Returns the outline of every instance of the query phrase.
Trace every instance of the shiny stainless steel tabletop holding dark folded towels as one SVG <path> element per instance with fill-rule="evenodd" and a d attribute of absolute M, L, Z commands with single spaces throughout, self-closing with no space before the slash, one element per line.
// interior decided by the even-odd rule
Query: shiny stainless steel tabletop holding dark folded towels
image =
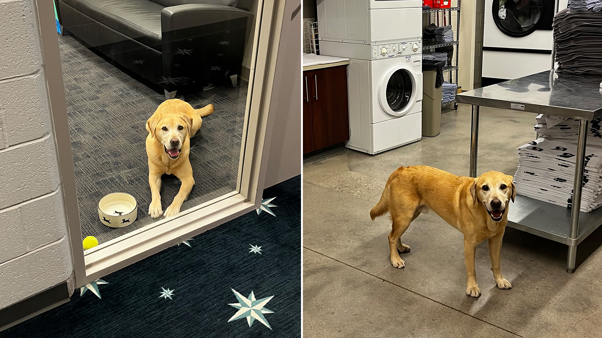
<path fill-rule="evenodd" d="M 602 76 L 554 70 L 456 95 L 459 103 L 593 120 L 602 115 Z"/>

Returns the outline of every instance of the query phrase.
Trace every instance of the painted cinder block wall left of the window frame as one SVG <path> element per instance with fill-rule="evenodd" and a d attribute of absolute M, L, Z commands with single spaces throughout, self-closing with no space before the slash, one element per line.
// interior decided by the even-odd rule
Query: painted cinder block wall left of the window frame
<path fill-rule="evenodd" d="M 0 41 L 2 309 L 67 280 L 72 260 L 33 0 L 0 2 Z"/>

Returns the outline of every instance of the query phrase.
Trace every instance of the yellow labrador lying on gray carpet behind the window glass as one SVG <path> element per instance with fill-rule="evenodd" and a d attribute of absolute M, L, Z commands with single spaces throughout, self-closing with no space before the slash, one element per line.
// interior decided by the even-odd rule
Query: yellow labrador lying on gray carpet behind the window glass
<path fill-rule="evenodd" d="M 213 112 L 213 105 L 194 109 L 179 99 L 166 100 L 146 121 L 146 155 L 149 158 L 149 185 L 152 201 L 149 215 L 152 218 L 170 217 L 180 212 L 180 207 L 194 185 L 190 153 L 190 138 L 202 124 L 202 117 Z M 165 210 L 161 207 L 161 175 L 173 174 L 182 182 L 173 203 Z"/>

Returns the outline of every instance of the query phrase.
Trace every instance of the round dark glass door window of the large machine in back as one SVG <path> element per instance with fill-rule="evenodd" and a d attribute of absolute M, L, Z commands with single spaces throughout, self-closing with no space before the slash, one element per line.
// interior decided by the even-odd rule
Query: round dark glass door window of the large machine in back
<path fill-rule="evenodd" d="M 544 0 L 493 0 L 493 20 L 511 37 L 524 37 L 535 31 L 544 13 Z"/>

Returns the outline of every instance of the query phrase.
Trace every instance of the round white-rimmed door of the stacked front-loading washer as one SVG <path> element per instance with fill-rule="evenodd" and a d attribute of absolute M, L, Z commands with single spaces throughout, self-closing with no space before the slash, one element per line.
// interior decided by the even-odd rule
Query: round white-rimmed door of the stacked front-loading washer
<path fill-rule="evenodd" d="M 403 64 L 391 67 L 380 79 L 379 103 L 386 114 L 405 115 L 416 102 L 416 75 Z"/>

